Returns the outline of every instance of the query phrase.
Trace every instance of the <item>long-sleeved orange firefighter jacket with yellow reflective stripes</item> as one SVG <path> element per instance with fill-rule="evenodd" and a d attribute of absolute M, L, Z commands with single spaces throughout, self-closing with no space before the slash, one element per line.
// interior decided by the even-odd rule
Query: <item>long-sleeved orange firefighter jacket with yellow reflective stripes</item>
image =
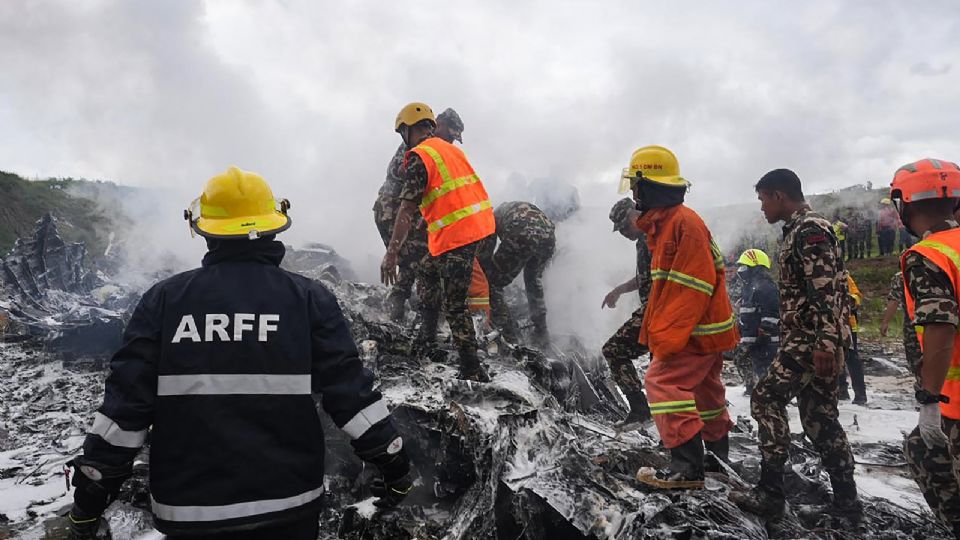
<path fill-rule="evenodd" d="M 723 255 L 700 216 L 681 204 L 650 210 L 637 225 L 647 233 L 652 280 L 640 343 L 659 358 L 735 348 Z"/>

